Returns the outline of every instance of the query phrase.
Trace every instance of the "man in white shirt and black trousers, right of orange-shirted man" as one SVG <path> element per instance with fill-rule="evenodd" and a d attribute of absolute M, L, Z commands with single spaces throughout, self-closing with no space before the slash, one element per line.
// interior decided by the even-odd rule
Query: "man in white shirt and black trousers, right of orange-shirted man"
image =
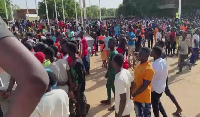
<path fill-rule="evenodd" d="M 155 117 L 159 117 L 159 111 L 162 113 L 163 117 L 167 117 L 167 114 L 160 102 L 160 98 L 162 93 L 165 91 L 168 66 L 166 60 L 161 58 L 161 55 L 162 49 L 155 46 L 151 52 L 151 56 L 154 58 L 152 67 L 155 71 L 152 80 L 151 104 Z"/>

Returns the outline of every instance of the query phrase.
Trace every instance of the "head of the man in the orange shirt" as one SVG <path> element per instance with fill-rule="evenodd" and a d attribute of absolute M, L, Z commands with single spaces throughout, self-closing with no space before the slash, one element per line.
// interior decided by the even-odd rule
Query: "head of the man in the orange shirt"
<path fill-rule="evenodd" d="M 141 61 L 141 63 L 145 63 L 148 61 L 149 55 L 150 49 L 147 47 L 143 47 L 139 51 L 138 60 Z"/>

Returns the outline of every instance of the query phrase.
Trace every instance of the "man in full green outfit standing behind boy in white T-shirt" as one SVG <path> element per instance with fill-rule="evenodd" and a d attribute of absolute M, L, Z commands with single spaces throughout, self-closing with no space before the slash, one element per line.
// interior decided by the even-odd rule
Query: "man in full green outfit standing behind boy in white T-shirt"
<path fill-rule="evenodd" d="M 115 81 L 115 70 L 111 64 L 113 57 L 118 53 L 115 50 L 115 46 L 116 46 L 116 41 L 114 38 L 110 39 L 108 42 L 108 47 L 110 48 L 110 53 L 109 53 L 109 60 L 108 60 L 108 70 L 107 73 L 105 75 L 105 77 L 107 78 L 107 84 L 106 84 L 106 88 L 107 88 L 107 100 L 102 100 L 101 103 L 102 104 L 111 104 L 111 89 L 113 91 L 113 93 L 115 93 L 115 86 L 114 86 L 114 81 Z"/>

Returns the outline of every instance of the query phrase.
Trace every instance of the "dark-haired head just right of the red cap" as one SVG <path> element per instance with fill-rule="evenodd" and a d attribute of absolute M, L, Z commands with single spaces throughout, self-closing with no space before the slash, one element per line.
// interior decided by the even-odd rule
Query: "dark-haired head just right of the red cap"
<path fill-rule="evenodd" d="M 50 60 L 51 62 L 54 62 L 54 55 L 55 52 L 51 47 L 47 47 L 44 49 L 44 54 L 45 54 L 45 58 Z"/>

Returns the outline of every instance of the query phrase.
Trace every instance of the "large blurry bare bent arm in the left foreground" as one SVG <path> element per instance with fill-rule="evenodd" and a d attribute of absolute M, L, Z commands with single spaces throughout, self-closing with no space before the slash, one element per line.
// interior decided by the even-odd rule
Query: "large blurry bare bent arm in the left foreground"
<path fill-rule="evenodd" d="M 46 91 L 49 81 L 45 69 L 14 37 L 0 39 L 0 66 L 18 84 L 6 117 L 29 117 Z"/>

